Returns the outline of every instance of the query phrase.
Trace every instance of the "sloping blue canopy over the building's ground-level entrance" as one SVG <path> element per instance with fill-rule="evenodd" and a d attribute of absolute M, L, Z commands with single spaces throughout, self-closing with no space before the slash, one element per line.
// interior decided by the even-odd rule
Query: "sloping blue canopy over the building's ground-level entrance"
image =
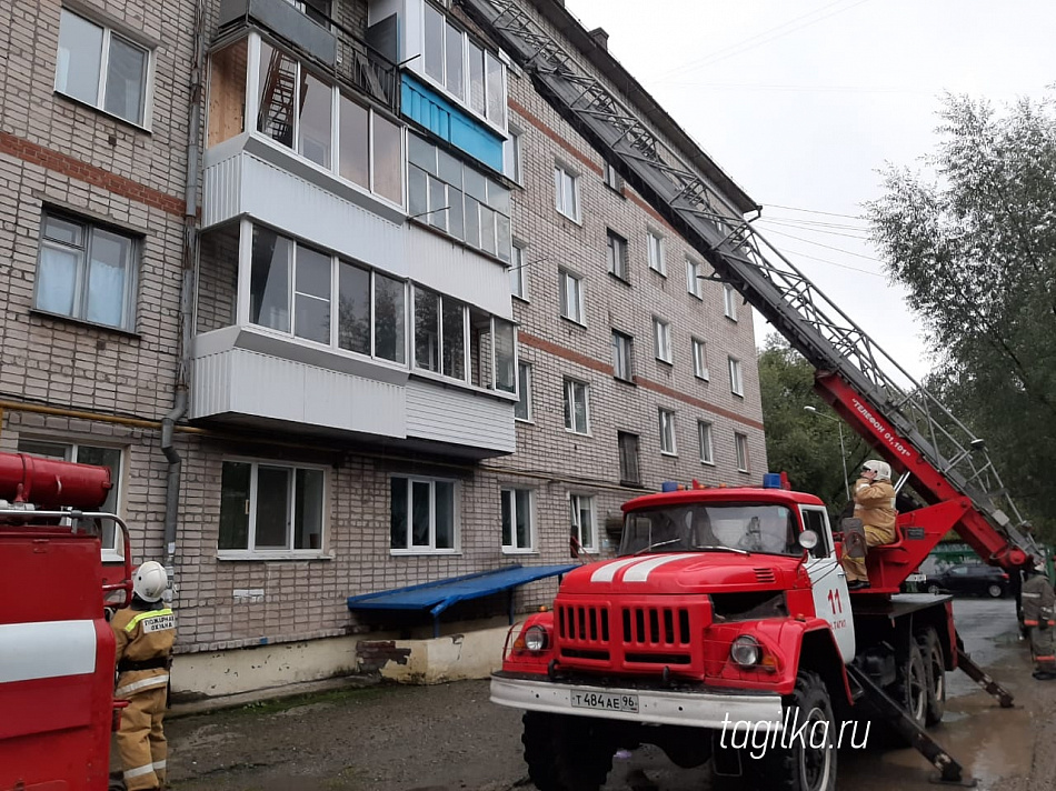
<path fill-rule="evenodd" d="M 515 588 L 547 577 L 560 577 L 577 568 L 579 565 L 576 563 L 571 565 L 505 565 L 501 569 L 479 571 L 475 574 L 452 577 L 420 585 L 350 595 L 348 598 L 348 609 L 352 612 L 360 610 L 429 610 L 429 614 L 432 615 L 432 632 L 435 635 L 439 635 L 440 613 L 451 604 L 509 591 L 511 593 L 510 623 L 512 623 L 512 590 Z"/>

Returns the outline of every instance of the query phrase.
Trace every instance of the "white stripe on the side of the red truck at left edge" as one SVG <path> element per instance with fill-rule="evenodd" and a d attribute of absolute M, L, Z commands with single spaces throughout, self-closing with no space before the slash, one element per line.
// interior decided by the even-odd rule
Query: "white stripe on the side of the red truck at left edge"
<path fill-rule="evenodd" d="M 94 621 L 0 624 L 0 683 L 94 671 Z"/>

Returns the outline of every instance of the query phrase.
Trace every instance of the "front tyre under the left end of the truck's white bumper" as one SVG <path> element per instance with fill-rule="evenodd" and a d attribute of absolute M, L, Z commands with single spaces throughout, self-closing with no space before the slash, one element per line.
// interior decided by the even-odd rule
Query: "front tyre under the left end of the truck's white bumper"
<path fill-rule="evenodd" d="M 616 742 L 589 717 L 525 712 L 525 763 L 539 791 L 598 791 L 612 768 Z"/>

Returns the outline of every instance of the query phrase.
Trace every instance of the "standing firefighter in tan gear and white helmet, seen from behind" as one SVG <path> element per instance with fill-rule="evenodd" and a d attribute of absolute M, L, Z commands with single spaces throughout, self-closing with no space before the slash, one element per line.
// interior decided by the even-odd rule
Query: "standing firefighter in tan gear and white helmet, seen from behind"
<path fill-rule="evenodd" d="M 132 575 L 132 604 L 110 620 L 117 639 L 117 689 L 127 700 L 118 731 L 118 752 L 128 791 L 161 789 L 166 740 L 161 728 L 169 685 L 176 623 L 162 601 L 169 577 L 161 563 L 147 561 Z"/>

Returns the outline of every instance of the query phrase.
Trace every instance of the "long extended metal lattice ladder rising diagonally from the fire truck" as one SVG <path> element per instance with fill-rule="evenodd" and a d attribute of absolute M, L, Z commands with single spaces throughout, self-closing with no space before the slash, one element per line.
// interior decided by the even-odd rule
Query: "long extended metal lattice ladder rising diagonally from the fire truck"
<path fill-rule="evenodd" d="M 920 463 L 934 472 L 925 478 L 948 482 L 972 499 L 990 530 L 1026 554 L 1035 553 L 1033 541 L 1012 525 L 1013 519 L 1016 523 L 1023 519 L 982 441 L 769 244 L 708 179 L 569 54 L 529 0 L 459 2 L 531 74 L 555 110 L 708 260 L 723 281 L 736 288 L 815 368 L 838 374 L 911 443 Z M 949 497 L 949 492 L 920 493 L 932 502 Z"/>

